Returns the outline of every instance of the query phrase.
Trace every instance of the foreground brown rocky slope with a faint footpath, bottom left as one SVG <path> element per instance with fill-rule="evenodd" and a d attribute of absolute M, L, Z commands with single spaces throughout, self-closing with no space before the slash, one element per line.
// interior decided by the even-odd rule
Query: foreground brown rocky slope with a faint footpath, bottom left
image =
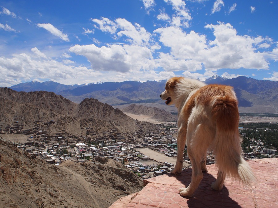
<path fill-rule="evenodd" d="M 143 188 L 142 181 L 120 163 L 96 158 L 50 165 L 1 139 L 0 178 L 0 208 L 105 208 Z"/>

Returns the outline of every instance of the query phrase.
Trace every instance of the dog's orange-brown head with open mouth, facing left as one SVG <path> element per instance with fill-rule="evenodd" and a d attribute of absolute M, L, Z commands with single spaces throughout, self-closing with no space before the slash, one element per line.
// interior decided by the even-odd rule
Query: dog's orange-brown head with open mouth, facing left
<path fill-rule="evenodd" d="M 165 85 L 165 91 L 160 94 L 162 100 L 166 100 L 166 105 L 175 104 L 175 87 L 183 77 L 172 77 Z"/>

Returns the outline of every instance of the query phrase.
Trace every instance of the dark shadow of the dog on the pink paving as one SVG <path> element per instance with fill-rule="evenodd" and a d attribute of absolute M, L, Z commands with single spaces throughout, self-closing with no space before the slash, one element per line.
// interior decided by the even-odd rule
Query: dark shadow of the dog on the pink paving
<path fill-rule="evenodd" d="M 176 178 L 184 187 L 187 187 L 191 182 L 191 175 L 192 169 L 188 168 L 184 169 Z M 195 191 L 194 196 L 186 197 L 188 199 L 188 207 L 241 207 L 229 197 L 229 190 L 225 186 L 223 186 L 221 191 L 216 191 L 211 188 L 212 182 L 216 181 L 213 175 L 209 173 L 203 173 L 203 175 L 204 177 Z"/>

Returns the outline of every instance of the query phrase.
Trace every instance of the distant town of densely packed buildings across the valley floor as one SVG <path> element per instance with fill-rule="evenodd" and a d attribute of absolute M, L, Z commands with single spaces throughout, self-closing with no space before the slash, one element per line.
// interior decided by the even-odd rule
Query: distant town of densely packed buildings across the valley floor
<path fill-rule="evenodd" d="M 46 124 L 54 123 L 54 120 Z M 143 132 L 139 130 L 133 135 L 122 135 L 117 129 L 102 132 L 102 137 L 91 128 L 84 128 L 84 135 L 69 135 L 66 131 L 62 134 L 48 135 L 39 127 L 39 122 L 34 128 L 23 129 L 23 125 L 15 122 L 0 129 L 1 134 L 24 134 L 30 137 L 23 144 L 15 144 L 18 148 L 24 149 L 31 157 L 41 157 L 50 164 L 59 165 L 65 160 L 84 162 L 89 159 L 106 157 L 115 162 L 124 164 L 128 169 L 137 173 L 139 177 L 149 178 L 169 173 L 174 167 L 166 161 L 154 161 L 138 151 L 140 148 L 149 148 L 164 154 L 168 157 L 176 157 L 177 153 L 177 124 L 160 123 L 156 124 L 156 132 Z M 239 131 L 242 131 L 242 127 Z M 259 159 L 262 157 L 278 157 L 277 149 L 267 149 L 261 141 L 250 139 L 248 153 L 244 153 L 246 159 Z M 245 149 L 245 148 L 244 148 Z M 187 150 L 184 151 L 184 161 L 190 164 Z M 207 164 L 214 163 L 211 153 L 207 155 Z"/>

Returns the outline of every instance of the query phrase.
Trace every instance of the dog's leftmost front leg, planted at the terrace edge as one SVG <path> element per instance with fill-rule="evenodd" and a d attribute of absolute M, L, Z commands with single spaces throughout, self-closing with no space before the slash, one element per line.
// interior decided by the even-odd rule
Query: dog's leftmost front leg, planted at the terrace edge
<path fill-rule="evenodd" d="M 177 145 L 178 145 L 178 153 L 177 153 L 177 161 L 175 168 L 171 170 L 172 174 L 179 175 L 183 168 L 183 152 L 186 142 L 186 128 L 183 128 L 182 126 L 178 129 L 178 139 L 177 139 Z"/>

